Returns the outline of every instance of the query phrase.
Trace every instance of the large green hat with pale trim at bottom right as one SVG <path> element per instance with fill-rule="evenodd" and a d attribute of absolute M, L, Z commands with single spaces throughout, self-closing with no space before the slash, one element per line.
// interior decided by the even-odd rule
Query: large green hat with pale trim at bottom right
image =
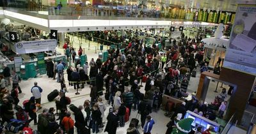
<path fill-rule="evenodd" d="M 177 128 L 184 132 L 189 133 L 191 131 L 191 124 L 193 123 L 194 119 L 192 118 L 186 118 L 179 121 L 179 123 L 176 124 Z"/>

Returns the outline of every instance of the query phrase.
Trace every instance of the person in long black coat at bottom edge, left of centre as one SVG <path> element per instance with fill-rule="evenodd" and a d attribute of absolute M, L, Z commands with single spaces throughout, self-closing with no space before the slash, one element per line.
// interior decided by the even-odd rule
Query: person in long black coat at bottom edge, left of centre
<path fill-rule="evenodd" d="M 109 112 L 108 114 L 108 123 L 106 125 L 105 131 L 108 134 L 116 134 L 116 128 L 118 127 L 118 108 L 115 108 L 114 112 Z"/>

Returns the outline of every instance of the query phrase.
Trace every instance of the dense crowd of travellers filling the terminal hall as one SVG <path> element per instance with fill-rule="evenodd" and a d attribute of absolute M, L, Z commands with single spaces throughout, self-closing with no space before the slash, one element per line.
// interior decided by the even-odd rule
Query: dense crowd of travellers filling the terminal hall
<path fill-rule="evenodd" d="M 99 33 L 109 34 L 110 33 Z M 81 64 L 79 59 L 75 59 L 76 51 L 74 48 L 65 47 L 65 54 L 68 62 L 73 62 L 73 66 L 67 66 L 63 61 L 47 61 L 47 75 L 49 78 L 56 78 L 60 82 L 60 100 L 56 101 L 56 112 L 58 119 L 54 114 L 54 108 L 44 108 L 43 112 L 37 114 L 37 110 L 42 108 L 40 105 L 41 93 L 43 89 L 35 82 L 31 89 L 33 96 L 23 106 L 19 106 L 18 91 L 21 93 L 19 87 L 19 76 L 13 71 L 12 82 L 13 92 L 5 89 L 2 82 L 4 78 L 11 75 L 5 74 L 8 69 L 4 71 L 4 77 L 1 78 L 1 118 L 3 123 L 13 123 L 14 119 L 24 121 L 24 128 L 29 128 L 29 123 L 34 121 L 38 125 L 40 133 L 54 134 L 54 133 L 74 133 L 76 127 L 77 133 L 99 133 L 100 130 L 115 134 L 116 128 L 124 127 L 125 122 L 129 121 L 132 108 L 140 114 L 140 123 L 143 133 L 151 133 L 154 126 L 154 120 L 150 113 L 154 110 L 159 110 L 163 100 L 163 94 L 170 96 L 177 96 L 178 98 L 186 96 L 186 89 L 180 88 L 184 82 L 188 84 L 191 72 L 196 69 L 197 64 L 201 68 L 209 63 L 204 60 L 203 44 L 200 43 L 200 38 L 190 39 L 184 34 L 181 35 L 181 40 L 176 42 L 174 40 L 173 47 L 160 52 L 162 48 L 152 45 L 146 47 L 143 40 L 138 36 L 117 36 L 114 33 L 108 36 L 108 39 L 119 40 L 118 38 L 130 38 L 129 45 L 124 48 L 124 52 L 120 48 L 109 48 L 108 59 L 102 63 L 101 59 L 96 61 L 92 58 L 89 63 Z M 104 35 L 103 35 L 104 36 Z M 113 39 L 112 39 L 113 38 Z M 114 42 L 115 42 L 114 41 Z M 120 40 L 121 42 L 124 40 Z M 157 38 L 156 41 L 164 42 L 163 39 Z M 164 44 L 164 43 L 163 43 Z M 164 48 L 164 45 L 163 45 Z M 83 51 L 83 50 L 82 50 Z M 81 50 L 77 52 L 81 56 Z M 67 80 L 64 77 L 65 67 L 67 66 Z M 8 68 L 5 66 L 5 68 Z M 4 69 L 5 69 L 4 68 Z M 10 71 L 10 68 L 9 68 Z M 207 71 L 207 70 L 204 70 Z M 8 80 L 5 80 L 8 82 Z M 85 100 L 83 105 L 76 107 L 70 105 L 70 98 L 65 96 L 67 86 L 73 86 L 74 89 L 84 88 L 85 84 L 90 84 L 90 100 Z M 145 87 L 141 87 L 141 82 L 146 82 Z M 10 84 L 11 82 L 8 82 Z M 145 90 L 142 92 L 142 90 Z M 104 100 L 107 103 L 104 103 Z M 13 105 L 15 107 L 13 108 Z M 69 109 L 74 112 L 74 119 L 72 119 Z M 223 105 L 227 105 L 226 102 Z M 224 106 L 220 106 L 220 116 L 223 115 Z M 109 108 L 109 114 L 104 116 L 106 107 Z M 182 117 L 186 114 L 186 110 L 194 111 L 198 114 L 204 115 L 214 119 L 213 111 L 209 113 L 204 102 L 198 103 L 198 100 L 193 96 L 192 100 L 182 103 L 172 116 L 172 123 L 175 123 L 178 114 Z M 16 117 L 15 113 L 16 112 Z M 29 117 L 31 119 L 29 119 Z M 38 117 L 38 119 L 37 119 Z M 57 121 L 59 120 L 59 123 Z M 108 121 L 106 127 L 104 121 Z M 17 122 L 17 121 L 16 121 Z M 172 133 L 173 124 L 168 124 L 168 133 Z M 198 128 L 199 130 L 199 128 Z M 127 133 L 140 133 L 138 131 L 138 123 L 131 121 Z M 167 133 L 167 132 L 166 132 Z"/>

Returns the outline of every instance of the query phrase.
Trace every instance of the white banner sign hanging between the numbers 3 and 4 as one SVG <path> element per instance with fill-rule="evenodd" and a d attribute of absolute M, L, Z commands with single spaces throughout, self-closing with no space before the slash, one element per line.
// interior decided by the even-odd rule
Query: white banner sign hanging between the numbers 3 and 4
<path fill-rule="evenodd" d="M 36 40 L 36 41 L 21 41 L 15 43 L 17 54 L 29 54 L 34 52 L 45 52 L 55 50 L 57 46 L 56 40 Z"/>

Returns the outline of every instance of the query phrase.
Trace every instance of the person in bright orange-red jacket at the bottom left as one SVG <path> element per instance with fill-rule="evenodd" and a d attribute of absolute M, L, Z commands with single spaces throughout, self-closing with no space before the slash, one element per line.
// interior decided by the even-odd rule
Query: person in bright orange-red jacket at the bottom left
<path fill-rule="evenodd" d="M 63 117 L 61 124 L 64 126 L 67 134 L 74 134 L 74 120 L 70 116 L 71 113 L 67 112 L 67 115 Z"/>

